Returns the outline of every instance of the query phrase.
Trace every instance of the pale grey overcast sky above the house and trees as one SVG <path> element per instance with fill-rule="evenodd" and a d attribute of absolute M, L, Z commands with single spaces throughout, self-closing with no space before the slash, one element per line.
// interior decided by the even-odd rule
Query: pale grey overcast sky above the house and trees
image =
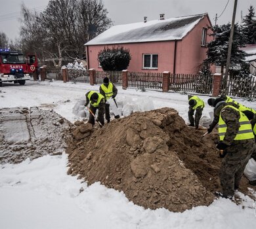
<path fill-rule="evenodd" d="M 18 37 L 20 27 L 18 18 L 22 2 L 26 7 L 40 12 L 47 6 L 49 0 L 0 0 L 0 31 L 6 33 L 10 39 Z M 142 22 L 144 16 L 147 16 L 148 20 L 156 20 L 159 14 L 165 14 L 165 18 L 172 18 L 204 12 L 209 14 L 212 24 L 215 24 L 215 14 L 220 16 L 217 24 L 226 24 L 232 21 L 234 8 L 234 0 L 102 0 L 102 2 L 115 25 Z M 256 0 L 238 0 L 236 22 L 241 22 L 241 17 L 248 13 L 250 5 L 256 9 Z"/>

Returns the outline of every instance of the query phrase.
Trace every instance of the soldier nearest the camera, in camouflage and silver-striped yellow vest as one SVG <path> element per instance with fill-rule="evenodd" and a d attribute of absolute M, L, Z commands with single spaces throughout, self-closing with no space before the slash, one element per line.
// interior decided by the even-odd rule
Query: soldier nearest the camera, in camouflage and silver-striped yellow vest
<path fill-rule="evenodd" d="M 216 146 L 223 158 L 219 178 L 222 196 L 232 198 L 239 188 L 244 168 L 255 147 L 253 130 L 248 118 L 236 107 L 219 98 L 215 100 L 215 116 L 219 115 L 219 140 Z M 221 107 L 221 108 L 219 108 Z M 219 109 L 221 109 L 219 111 Z"/>

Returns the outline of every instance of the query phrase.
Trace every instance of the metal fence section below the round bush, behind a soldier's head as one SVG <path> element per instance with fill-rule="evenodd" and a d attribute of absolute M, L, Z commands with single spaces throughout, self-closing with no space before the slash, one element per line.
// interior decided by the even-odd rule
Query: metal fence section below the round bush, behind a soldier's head
<path fill-rule="evenodd" d="M 105 77 L 108 77 L 110 82 L 113 82 L 115 85 L 122 86 L 121 71 L 96 71 L 96 84 L 102 84 Z"/>

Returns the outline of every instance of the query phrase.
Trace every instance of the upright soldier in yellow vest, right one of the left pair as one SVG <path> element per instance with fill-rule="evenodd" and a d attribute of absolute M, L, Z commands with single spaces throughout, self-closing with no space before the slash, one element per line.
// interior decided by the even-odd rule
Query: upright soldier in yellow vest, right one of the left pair
<path fill-rule="evenodd" d="M 103 84 L 100 85 L 100 94 L 104 96 L 106 101 L 110 99 L 110 97 L 114 99 L 117 95 L 117 88 L 114 84 L 112 84 L 112 82 L 110 82 L 110 79 L 108 79 L 108 77 L 105 77 L 103 79 Z M 110 104 L 109 103 L 105 103 L 105 116 L 106 116 L 107 122 L 110 122 Z"/>

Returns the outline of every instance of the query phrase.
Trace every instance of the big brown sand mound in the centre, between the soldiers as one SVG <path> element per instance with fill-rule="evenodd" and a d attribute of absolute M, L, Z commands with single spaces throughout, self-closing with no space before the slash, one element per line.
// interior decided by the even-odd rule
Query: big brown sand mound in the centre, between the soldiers
<path fill-rule="evenodd" d="M 209 205 L 220 190 L 216 133 L 202 139 L 205 130 L 188 128 L 174 109 L 133 113 L 97 130 L 76 125 L 68 173 L 89 184 L 100 181 L 138 205 L 170 211 Z"/>

